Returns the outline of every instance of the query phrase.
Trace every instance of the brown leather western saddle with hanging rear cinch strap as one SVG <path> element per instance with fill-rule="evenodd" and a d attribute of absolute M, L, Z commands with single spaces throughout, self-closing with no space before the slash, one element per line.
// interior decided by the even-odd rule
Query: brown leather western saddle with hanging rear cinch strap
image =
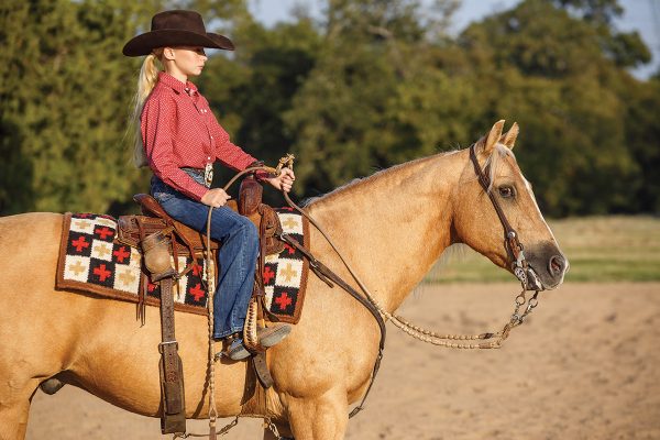
<path fill-rule="evenodd" d="M 239 190 L 238 202 L 228 201 L 228 207 L 248 217 L 260 233 L 260 258 L 255 275 L 251 311 L 256 314 L 263 324 L 263 282 L 261 275 L 266 255 L 279 253 L 284 250 L 284 242 L 277 237 L 282 233 L 282 226 L 277 213 L 267 205 L 262 204 L 263 188 L 254 176 L 245 177 Z M 178 255 L 189 255 L 191 265 L 197 264 L 197 258 L 206 252 L 206 237 L 176 220 L 174 220 L 161 205 L 150 195 L 139 194 L 133 199 L 141 206 L 143 216 L 122 216 L 119 218 L 118 240 L 142 248 L 144 265 L 151 273 L 153 283 L 161 283 L 161 329 L 162 342 L 158 351 L 162 355 L 161 372 L 161 430 L 163 433 L 186 432 L 186 415 L 184 402 L 183 364 L 178 355 L 178 343 L 174 331 L 174 298 L 173 280 L 187 273 L 191 267 L 183 271 L 177 266 Z M 210 252 L 218 267 L 217 255 L 221 244 L 211 241 Z M 174 256 L 175 267 L 172 267 L 170 255 Z M 191 266 L 190 265 L 190 266 Z M 143 277 L 147 275 L 144 274 Z M 217 274 L 216 274 L 217 279 Z M 146 279 L 144 279 L 146 280 Z M 143 283 L 146 286 L 146 283 Z M 140 316 L 144 320 L 144 288 L 140 293 Z M 252 308 L 252 304 L 254 308 Z M 256 311 L 255 311 L 256 310 Z M 264 387 L 270 387 L 273 380 L 265 367 L 263 348 L 256 348 L 253 359 L 256 376 Z"/>

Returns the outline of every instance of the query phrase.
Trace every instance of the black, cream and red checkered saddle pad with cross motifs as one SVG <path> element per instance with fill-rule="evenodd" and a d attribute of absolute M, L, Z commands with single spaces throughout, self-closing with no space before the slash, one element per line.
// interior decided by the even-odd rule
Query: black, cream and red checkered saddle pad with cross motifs
<path fill-rule="evenodd" d="M 275 211 L 283 231 L 309 246 L 307 220 L 290 208 Z M 161 289 L 144 276 L 142 251 L 119 242 L 117 228 L 117 220 L 110 216 L 65 213 L 56 287 L 138 302 L 146 283 L 145 304 L 158 306 Z M 183 271 L 191 262 L 191 256 L 178 255 L 178 270 Z M 197 265 L 175 283 L 175 309 L 207 314 L 204 266 L 204 258 L 197 258 Z M 279 254 L 266 256 L 263 273 L 266 305 L 280 321 L 296 323 L 300 319 L 308 270 L 304 255 L 288 245 Z"/>

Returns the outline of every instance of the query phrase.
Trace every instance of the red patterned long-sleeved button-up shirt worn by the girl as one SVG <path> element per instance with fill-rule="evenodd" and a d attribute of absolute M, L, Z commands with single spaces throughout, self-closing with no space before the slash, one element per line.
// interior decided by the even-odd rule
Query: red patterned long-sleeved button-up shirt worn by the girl
<path fill-rule="evenodd" d="M 144 102 L 142 142 L 148 166 L 165 184 L 201 200 L 208 191 L 182 167 L 204 168 L 220 161 L 242 170 L 256 160 L 234 145 L 209 109 L 197 87 L 161 72 L 158 82 Z"/>

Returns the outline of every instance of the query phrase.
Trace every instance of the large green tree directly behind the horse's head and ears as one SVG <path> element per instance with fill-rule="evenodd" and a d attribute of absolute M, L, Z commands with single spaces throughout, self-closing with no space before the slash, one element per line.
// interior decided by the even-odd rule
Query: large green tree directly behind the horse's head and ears
<path fill-rule="evenodd" d="M 593 2 L 570 7 L 583 3 Z M 484 90 L 475 122 L 520 123 L 520 162 L 553 216 L 630 211 L 642 185 L 626 130 L 636 80 L 603 45 L 604 35 L 614 35 L 607 23 L 595 26 L 556 2 L 526 0 L 459 40 Z"/>

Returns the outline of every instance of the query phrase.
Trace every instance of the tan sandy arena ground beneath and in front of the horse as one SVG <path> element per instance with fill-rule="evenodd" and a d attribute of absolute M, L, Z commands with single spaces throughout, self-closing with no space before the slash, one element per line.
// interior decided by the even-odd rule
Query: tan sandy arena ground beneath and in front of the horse
<path fill-rule="evenodd" d="M 491 330 L 510 315 L 516 287 L 425 288 L 399 311 L 441 331 Z M 502 350 L 449 351 L 388 331 L 348 439 L 660 439 L 660 284 L 568 283 L 541 297 Z M 30 440 L 170 438 L 158 419 L 72 386 L 37 392 L 30 417 Z M 224 438 L 261 432 L 243 420 Z"/>

